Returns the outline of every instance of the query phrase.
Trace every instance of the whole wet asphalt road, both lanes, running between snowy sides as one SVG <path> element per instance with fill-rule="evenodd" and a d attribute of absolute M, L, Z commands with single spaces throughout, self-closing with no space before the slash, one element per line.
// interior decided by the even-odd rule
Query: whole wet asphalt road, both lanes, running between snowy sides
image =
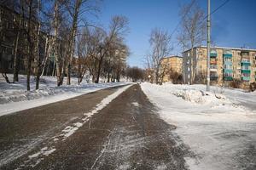
<path fill-rule="evenodd" d="M 186 169 L 188 151 L 133 85 L 67 138 L 117 88 L 0 116 L 0 169 Z"/>

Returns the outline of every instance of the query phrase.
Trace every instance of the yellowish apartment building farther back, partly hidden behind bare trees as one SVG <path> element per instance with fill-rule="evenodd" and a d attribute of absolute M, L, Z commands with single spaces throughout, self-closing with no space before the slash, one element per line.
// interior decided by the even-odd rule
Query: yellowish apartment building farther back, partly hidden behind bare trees
<path fill-rule="evenodd" d="M 170 82 L 170 74 L 176 72 L 183 73 L 183 58 L 180 56 L 170 56 L 161 59 L 161 72 L 163 72 L 163 82 Z"/>

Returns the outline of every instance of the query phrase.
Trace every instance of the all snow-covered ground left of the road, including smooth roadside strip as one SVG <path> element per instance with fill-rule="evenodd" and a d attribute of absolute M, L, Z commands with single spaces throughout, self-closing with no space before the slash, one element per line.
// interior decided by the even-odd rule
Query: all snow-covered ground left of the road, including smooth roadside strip
<path fill-rule="evenodd" d="M 9 79 L 13 79 L 12 75 L 9 75 Z M 109 82 L 96 84 L 82 82 L 78 85 L 78 79 L 72 78 L 72 85 L 56 87 L 56 77 L 41 77 L 39 89 L 35 90 L 36 82 L 32 77 L 32 90 L 26 91 L 26 76 L 20 75 L 19 82 L 10 84 L 5 82 L 3 77 L 0 77 L 0 116 L 127 83 Z M 63 84 L 66 84 L 66 81 Z"/>

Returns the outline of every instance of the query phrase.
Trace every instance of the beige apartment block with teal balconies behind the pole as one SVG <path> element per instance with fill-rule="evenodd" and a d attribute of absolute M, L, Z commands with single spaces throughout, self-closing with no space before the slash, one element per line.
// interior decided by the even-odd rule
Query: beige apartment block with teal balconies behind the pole
<path fill-rule="evenodd" d="M 243 85 L 255 82 L 255 63 L 256 49 L 211 48 L 211 82 L 226 86 L 233 80 L 241 80 Z M 190 84 L 207 82 L 207 47 L 183 52 L 183 79 Z"/>

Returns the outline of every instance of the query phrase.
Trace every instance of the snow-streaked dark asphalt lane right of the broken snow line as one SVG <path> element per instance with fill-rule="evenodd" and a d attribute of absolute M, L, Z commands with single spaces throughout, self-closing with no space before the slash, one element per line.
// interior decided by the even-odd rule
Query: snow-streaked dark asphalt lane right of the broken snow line
<path fill-rule="evenodd" d="M 134 85 L 66 140 L 44 141 L 49 155 L 44 155 L 41 146 L 39 152 L 31 151 L 5 168 L 187 169 L 184 156 L 189 152 L 173 129 L 160 119 L 141 88 Z"/>

